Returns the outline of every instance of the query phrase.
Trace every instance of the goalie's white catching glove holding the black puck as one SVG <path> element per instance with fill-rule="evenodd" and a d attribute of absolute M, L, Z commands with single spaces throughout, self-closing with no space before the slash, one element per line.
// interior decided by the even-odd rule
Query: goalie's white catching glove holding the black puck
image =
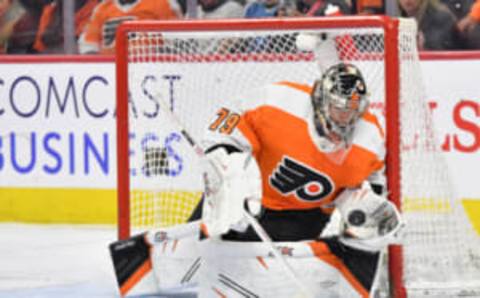
<path fill-rule="evenodd" d="M 335 205 L 344 225 L 342 243 L 361 250 L 379 251 L 399 242 L 404 223 L 397 207 L 376 194 L 369 183 L 344 190 Z"/>

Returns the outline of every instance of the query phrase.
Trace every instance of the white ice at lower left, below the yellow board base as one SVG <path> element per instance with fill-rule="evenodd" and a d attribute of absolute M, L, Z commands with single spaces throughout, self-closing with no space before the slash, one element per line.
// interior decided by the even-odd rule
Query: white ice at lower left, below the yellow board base
<path fill-rule="evenodd" d="M 0 297 L 119 297 L 114 226 L 0 224 Z"/>

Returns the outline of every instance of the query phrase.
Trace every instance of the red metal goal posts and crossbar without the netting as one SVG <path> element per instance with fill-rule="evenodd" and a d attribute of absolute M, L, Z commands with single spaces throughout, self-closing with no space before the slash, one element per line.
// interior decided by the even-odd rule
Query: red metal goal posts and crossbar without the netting
<path fill-rule="evenodd" d="M 117 203 L 118 238 L 130 236 L 130 177 L 129 177 L 129 113 L 128 113 L 128 32 L 146 31 L 248 31 L 318 28 L 383 28 L 386 114 L 386 176 L 389 199 L 401 211 L 400 168 L 400 58 L 398 50 L 399 20 L 386 16 L 342 16 L 328 18 L 274 18 L 181 21 L 129 21 L 116 32 L 116 92 L 117 92 Z M 401 245 L 389 247 L 389 273 L 392 293 L 406 297 L 403 285 Z"/>

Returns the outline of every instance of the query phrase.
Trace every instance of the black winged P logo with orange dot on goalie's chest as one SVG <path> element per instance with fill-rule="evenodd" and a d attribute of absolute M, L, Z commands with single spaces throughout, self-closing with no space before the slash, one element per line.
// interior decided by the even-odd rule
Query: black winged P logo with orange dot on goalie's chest
<path fill-rule="evenodd" d="M 334 188 L 328 176 L 288 157 L 283 157 L 270 176 L 270 185 L 283 195 L 294 193 L 298 199 L 308 202 L 327 197 Z"/>

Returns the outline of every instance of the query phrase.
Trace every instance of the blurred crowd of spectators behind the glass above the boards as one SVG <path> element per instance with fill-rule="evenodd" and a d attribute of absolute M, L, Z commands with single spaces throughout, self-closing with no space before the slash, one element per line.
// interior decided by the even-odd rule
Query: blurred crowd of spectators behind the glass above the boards
<path fill-rule="evenodd" d="M 110 54 L 133 19 L 338 15 L 410 17 L 421 50 L 480 49 L 480 0 L 0 0 L 0 51 Z"/>

